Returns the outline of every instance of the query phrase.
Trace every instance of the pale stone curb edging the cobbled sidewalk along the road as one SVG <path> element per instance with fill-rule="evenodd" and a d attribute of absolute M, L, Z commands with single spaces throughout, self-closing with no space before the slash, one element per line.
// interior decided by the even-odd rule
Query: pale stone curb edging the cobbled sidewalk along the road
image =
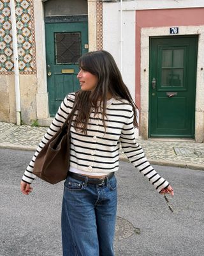
<path fill-rule="evenodd" d="M 13 150 L 25 150 L 25 151 L 36 151 L 37 146 L 25 146 L 25 145 L 13 145 L 8 143 L 0 143 L 0 148 L 13 149 Z M 128 157 L 124 154 L 120 155 L 120 161 L 129 162 Z M 182 162 L 171 162 L 165 160 L 153 160 L 149 159 L 150 164 L 161 165 L 161 166 L 171 166 L 179 168 L 189 168 L 192 170 L 201 170 L 204 171 L 204 164 L 191 164 L 191 163 L 182 163 Z"/>

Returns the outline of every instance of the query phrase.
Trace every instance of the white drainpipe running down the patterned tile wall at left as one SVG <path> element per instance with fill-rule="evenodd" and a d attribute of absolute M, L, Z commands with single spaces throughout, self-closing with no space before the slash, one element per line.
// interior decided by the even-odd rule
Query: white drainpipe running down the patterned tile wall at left
<path fill-rule="evenodd" d="M 18 67 L 18 42 L 17 42 L 17 24 L 15 17 L 15 0 L 10 0 L 11 8 L 11 26 L 12 26 L 12 39 L 13 39 L 13 61 L 14 61 L 14 74 L 15 74 L 15 101 L 17 113 L 17 125 L 21 124 L 20 121 L 20 83 L 19 83 L 19 67 Z"/>

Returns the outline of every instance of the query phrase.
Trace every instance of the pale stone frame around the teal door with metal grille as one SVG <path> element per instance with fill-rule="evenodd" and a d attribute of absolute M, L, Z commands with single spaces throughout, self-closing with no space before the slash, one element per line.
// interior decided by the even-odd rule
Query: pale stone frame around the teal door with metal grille
<path fill-rule="evenodd" d="M 34 19 L 35 41 L 36 41 L 36 70 L 38 80 L 38 92 L 36 93 L 36 114 L 40 125 L 49 125 L 48 92 L 47 92 L 47 72 L 46 72 L 46 49 L 45 49 L 45 22 L 44 4 L 47 0 L 34 0 L 34 14 L 38 13 L 38 19 Z M 97 26 L 98 1 L 87 1 L 88 4 L 88 28 L 89 28 L 89 51 L 98 49 Z M 37 17 L 37 15 L 36 15 Z M 98 22 L 97 22 L 98 21 Z M 100 38 L 103 40 L 103 38 Z M 101 41 L 103 42 L 103 41 Z"/>

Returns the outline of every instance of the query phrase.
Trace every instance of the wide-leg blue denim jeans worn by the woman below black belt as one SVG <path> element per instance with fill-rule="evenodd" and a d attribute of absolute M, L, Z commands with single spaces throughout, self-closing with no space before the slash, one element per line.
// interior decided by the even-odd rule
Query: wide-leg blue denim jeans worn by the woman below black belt
<path fill-rule="evenodd" d="M 63 256 L 113 256 L 116 209 L 115 176 L 103 186 L 68 177 L 62 201 Z"/>

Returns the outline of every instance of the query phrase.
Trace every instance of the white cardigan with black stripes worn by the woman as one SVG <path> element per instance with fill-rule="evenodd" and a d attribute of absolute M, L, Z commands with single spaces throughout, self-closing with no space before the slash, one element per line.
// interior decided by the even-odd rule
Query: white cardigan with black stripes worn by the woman
<path fill-rule="evenodd" d="M 75 93 L 69 93 L 62 101 L 55 118 L 41 140 L 33 159 L 22 177 L 31 184 L 35 179 L 33 166 L 36 156 L 48 140 L 59 130 L 73 108 Z M 77 113 L 75 114 L 77 115 Z M 133 107 L 127 100 L 110 99 L 106 106 L 106 131 L 101 113 L 92 111 L 87 126 L 87 134 L 76 131 L 71 125 L 70 166 L 89 175 L 105 175 L 119 170 L 119 148 L 140 173 L 149 179 L 157 191 L 168 187 L 164 180 L 147 161 L 142 147 L 135 140 Z"/>

